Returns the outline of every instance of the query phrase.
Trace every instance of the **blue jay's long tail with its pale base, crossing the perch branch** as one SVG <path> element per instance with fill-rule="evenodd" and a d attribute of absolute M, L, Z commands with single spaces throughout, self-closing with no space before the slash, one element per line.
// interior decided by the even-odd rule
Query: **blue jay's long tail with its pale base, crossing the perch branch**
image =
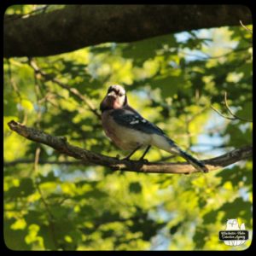
<path fill-rule="evenodd" d="M 152 139 L 152 145 L 166 150 L 172 154 L 177 154 L 183 157 L 183 159 L 187 160 L 192 166 L 195 167 L 196 170 L 201 172 L 208 172 L 207 166 L 205 166 L 200 160 L 195 159 L 192 155 L 186 153 L 181 148 L 177 146 L 170 138 L 166 136 L 154 135 Z"/>

